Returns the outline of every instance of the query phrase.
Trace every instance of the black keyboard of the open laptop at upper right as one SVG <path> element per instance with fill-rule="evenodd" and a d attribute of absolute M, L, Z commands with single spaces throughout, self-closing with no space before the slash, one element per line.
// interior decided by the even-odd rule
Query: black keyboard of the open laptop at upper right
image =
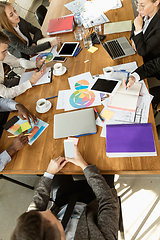
<path fill-rule="evenodd" d="M 125 53 L 117 40 L 106 42 L 103 45 L 112 58 L 124 56 Z"/>

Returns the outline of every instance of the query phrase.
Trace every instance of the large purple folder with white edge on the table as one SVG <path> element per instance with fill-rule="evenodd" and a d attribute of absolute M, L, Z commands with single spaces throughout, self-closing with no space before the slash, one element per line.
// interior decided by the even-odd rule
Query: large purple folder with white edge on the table
<path fill-rule="evenodd" d="M 157 156 L 151 123 L 106 125 L 108 157 Z"/>

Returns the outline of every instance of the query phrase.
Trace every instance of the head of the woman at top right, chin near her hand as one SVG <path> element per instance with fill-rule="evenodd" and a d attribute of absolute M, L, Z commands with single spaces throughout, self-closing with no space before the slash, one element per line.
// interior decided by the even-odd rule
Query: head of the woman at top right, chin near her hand
<path fill-rule="evenodd" d="M 135 4 L 137 12 L 139 12 L 142 17 L 153 17 L 159 10 L 160 0 L 137 0 Z"/>

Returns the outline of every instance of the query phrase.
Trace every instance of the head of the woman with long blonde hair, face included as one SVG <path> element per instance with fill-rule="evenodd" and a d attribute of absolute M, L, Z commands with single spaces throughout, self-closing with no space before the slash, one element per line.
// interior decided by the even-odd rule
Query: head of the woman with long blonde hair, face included
<path fill-rule="evenodd" d="M 14 27 L 20 22 L 16 9 L 9 2 L 0 1 L 0 28 L 16 35 L 22 42 L 25 40 L 18 35 Z"/>

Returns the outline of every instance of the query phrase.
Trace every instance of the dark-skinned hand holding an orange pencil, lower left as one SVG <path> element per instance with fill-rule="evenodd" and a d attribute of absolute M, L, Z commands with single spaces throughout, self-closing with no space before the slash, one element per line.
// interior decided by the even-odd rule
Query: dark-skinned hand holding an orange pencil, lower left
<path fill-rule="evenodd" d="M 13 140 L 12 144 L 6 149 L 6 151 L 11 157 L 14 153 L 23 148 L 28 143 L 28 136 L 25 136 L 24 133 L 21 133 L 18 137 L 16 137 Z"/>

